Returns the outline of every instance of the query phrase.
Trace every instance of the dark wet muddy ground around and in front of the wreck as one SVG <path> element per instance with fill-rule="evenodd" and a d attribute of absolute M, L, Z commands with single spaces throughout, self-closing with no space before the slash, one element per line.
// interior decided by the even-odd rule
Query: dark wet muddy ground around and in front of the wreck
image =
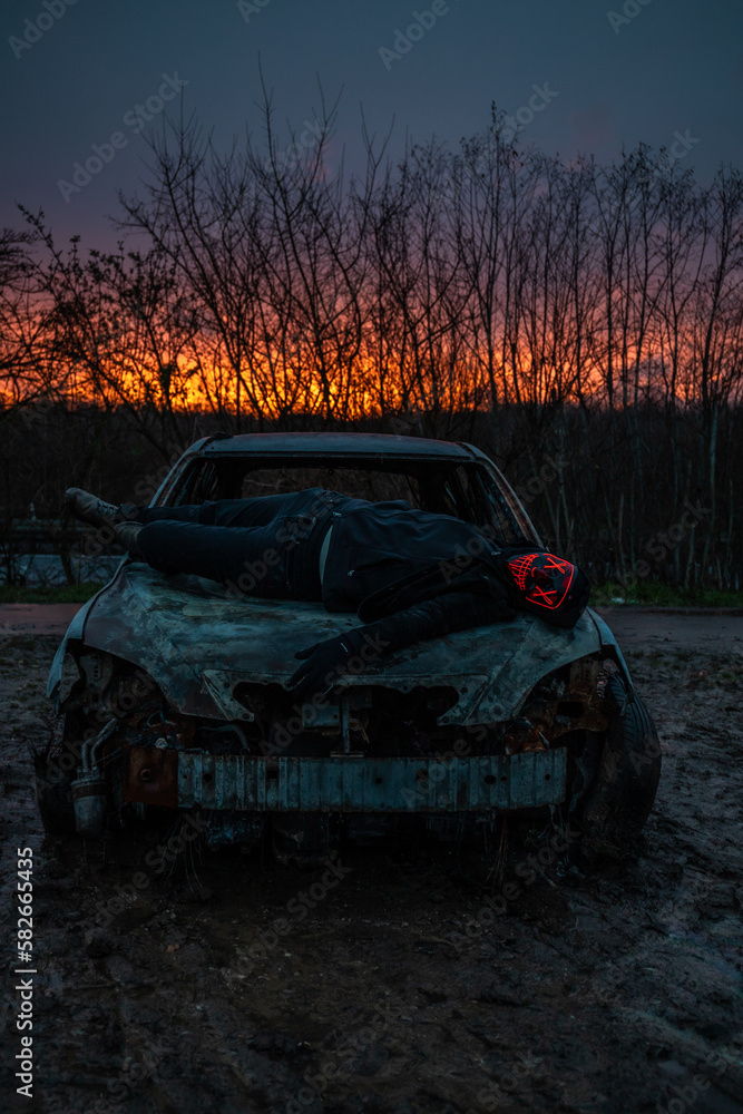
<path fill-rule="evenodd" d="M 743 632 L 616 625 L 663 740 L 639 859 L 585 877 L 527 831 L 485 887 L 495 848 L 356 849 L 329 873 L 185 838 L 164 869 L 164 834 L 45 840 L 28 746 L 58 639 L 6 635 L 0 1108 L 742 1112 Z M 18 847 L 32 1100 L 9 1067 Z"/>

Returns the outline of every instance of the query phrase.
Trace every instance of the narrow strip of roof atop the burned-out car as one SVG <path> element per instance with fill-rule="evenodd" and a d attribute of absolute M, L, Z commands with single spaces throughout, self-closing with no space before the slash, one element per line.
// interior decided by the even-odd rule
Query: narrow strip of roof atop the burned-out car
<path fill-rule="evenodd" d="M 286 455 L 322 455 L 339 457 L 437 457 L 472 460 L 480 453 L 471 446 L 457 441 L 438 441 L 426 437 L 401 437 L 397 433 L 235 433 L 218 436 L 202 448 L 205 457 Z"/>

